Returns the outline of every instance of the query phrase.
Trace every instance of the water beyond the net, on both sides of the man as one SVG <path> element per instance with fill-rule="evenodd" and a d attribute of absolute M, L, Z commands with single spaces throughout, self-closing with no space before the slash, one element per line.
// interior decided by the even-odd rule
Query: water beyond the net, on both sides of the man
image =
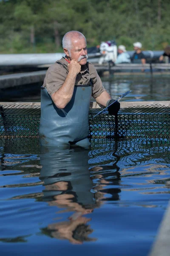
<path fill-rule="evenodd" d="M 103 77 L 102 82 L 106 90 L 113 99 L 128 90 L 132 90 L 122 101 L 164 101 L 170 99 L 169 75 L 164 74 L 145 74 L 136 75 L 118 75 L 108 78 Z M 1 102 L 40 102 L 40 87 L 42 83 L 26 84 L 0 89 Z"/>

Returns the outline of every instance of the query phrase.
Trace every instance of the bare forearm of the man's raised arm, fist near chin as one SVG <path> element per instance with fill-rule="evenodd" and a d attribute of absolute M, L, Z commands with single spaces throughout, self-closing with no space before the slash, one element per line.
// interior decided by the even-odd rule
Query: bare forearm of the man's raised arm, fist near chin
<path fill-rule="evenodd" d="M 68 72 L 65 82 L 62 84 L 59 90 L 57 90 L 57 92 L 51 95 L 51 98 L 57 108 L 65 108 L 68 102 L 70 102 L 74 92 L 76 76 L 77 75 Z"/>

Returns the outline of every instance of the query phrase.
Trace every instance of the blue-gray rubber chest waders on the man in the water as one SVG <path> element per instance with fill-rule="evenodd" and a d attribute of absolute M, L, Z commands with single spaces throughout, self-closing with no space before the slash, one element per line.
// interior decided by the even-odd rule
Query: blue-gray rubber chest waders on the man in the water
<path fill-rule="evenodd" d="M 81 145 L 81 141 L 87 145 L 89 133 L 88 112 L 92 85 L 92 79 L 87 85 L 75 85 L 71 101 L 63 109 L 57 108 L 47 90 L 41 87 L 41 145 Z"/>

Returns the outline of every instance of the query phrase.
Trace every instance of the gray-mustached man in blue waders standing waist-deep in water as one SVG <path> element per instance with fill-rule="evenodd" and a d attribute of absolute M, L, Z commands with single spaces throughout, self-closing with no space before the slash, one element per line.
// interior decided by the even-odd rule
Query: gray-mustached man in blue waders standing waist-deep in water
<path fill-rule="evenodd" d="M 78 31 L 67 32 L 62 46 L 65 58 L 49 67 L 41 90 L 40 143 L 87 146 L 91 96 L 103 106 L 110 105 L 113 99 L 103 87 L 94 65 L 87 63 L 85 36 Z M 116 102 L 108 111 L 115 115 L 119 108 Z"/>

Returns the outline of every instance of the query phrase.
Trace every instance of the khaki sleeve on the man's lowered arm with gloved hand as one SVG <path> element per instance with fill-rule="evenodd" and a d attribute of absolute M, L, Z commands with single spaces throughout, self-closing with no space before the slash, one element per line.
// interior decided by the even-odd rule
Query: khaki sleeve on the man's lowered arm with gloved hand
<path fill-rule="evenodd" d="M 93 80 L 92 96 L 94 97 L 94 99 L 96 99 L 100 96 L 102 92 L 105 91 L 105 88 L 103 87 L 102 81 L 96 71 L 96 68 L 91 63 L 89 63 L 89 73 L 91 79 Z"/>

